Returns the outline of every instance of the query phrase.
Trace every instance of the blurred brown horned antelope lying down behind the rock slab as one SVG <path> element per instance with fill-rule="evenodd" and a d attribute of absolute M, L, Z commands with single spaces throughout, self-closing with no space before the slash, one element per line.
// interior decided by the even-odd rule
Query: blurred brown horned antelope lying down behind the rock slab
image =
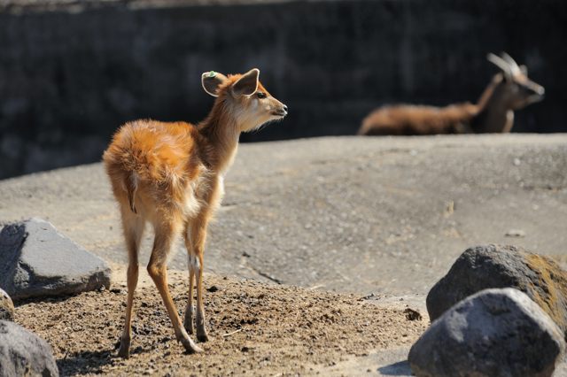
<path fill-rule="evenodd" d="M 530 81 L 525 65 L 517 65 L 508 54 L 488 54 L 488 60 L 501 73 L 494 75 L 478 104 L 384 106 L 362 121 L 358 135 L 508 133 L 514 111 L 541 101 L 545 90 Z"/>

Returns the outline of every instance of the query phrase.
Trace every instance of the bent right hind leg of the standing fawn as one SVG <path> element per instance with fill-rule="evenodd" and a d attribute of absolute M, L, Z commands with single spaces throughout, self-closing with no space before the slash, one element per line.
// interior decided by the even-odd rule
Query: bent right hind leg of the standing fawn
<path fill-rule="evenodd" d="M 178 221 L 181 223 L 181 221 Z M 175 303 L 171 298 L 169 289 L 167 288 L 167 255 L 171 251 L 175 242 L 175 237 L 178 235 L 180 227 L 175 224 L 175 220 L 158 221 L 155 226 L 155 240 L 153 242 L 153 249 L 151 250 L 150 263 L 148 264 L 148 273 L 159 290 L 159 295 L 166 305 L 169 319 L 175 329 L 175 337 L 183 344 L 185 350 L 189 353 L 201 352 L 202 350 L 191 341 L 187 331 L 183 328 Z"/>

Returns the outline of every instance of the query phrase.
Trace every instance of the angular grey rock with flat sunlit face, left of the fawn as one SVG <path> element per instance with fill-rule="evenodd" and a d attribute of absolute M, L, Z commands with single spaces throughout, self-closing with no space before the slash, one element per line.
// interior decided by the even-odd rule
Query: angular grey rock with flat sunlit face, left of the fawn
<path fill-rule="evenodd" d="M 101 287 L 110 287 L 105 261 L 60 235 L 49 222 L 29 219 L 0 231 L 0 288 L 12 299 Z"/>

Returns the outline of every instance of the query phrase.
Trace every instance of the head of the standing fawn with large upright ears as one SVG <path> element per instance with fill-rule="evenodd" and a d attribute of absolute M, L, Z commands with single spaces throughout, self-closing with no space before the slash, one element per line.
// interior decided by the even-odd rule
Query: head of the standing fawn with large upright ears
<path fill-rule="evenodd" d="M 258 80 L 260 70 L 228 77 L 214 71 L 203 73 L 201 82 L 206 93 L 216 97 L 215 106 L 236 120 L 238 131 L 259 128 L 270 120 L 283 119 L 287 106 L 268 93 Z"/>

